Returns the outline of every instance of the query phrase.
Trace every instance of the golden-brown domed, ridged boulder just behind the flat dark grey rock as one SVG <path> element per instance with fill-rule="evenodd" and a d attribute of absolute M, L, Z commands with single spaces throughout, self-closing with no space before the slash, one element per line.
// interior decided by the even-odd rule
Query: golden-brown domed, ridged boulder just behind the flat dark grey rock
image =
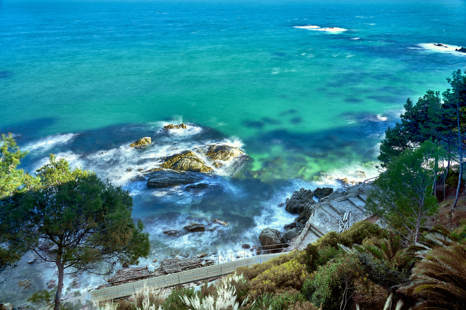
<path fill-rule="evenodd" d="M 162 158 L 164 162 L 160 164 L 162 168 L 192 171 L 192 172 L 209 172 L 212 168 L 207 166 L 204 160 L 199 158 L 191 151 L 181 152 L 175 155 Z"/>

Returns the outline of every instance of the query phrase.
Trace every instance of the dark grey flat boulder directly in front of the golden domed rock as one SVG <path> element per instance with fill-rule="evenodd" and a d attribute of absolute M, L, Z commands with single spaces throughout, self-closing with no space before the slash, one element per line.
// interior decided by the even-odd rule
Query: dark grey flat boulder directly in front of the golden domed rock
<path fill-rule="evenodd" d="M 157 168 L 156 168 L 157 169 Z M 161 170 L 152 171 L 147 178 L 148 187 L 169 187 L 182 184 L 192 184 L 200 181 L 200 178 L 195 173 L 189 173 L 186 171 L 176 171 L 176 170 L 166 170 L 159 168 Z"/>

